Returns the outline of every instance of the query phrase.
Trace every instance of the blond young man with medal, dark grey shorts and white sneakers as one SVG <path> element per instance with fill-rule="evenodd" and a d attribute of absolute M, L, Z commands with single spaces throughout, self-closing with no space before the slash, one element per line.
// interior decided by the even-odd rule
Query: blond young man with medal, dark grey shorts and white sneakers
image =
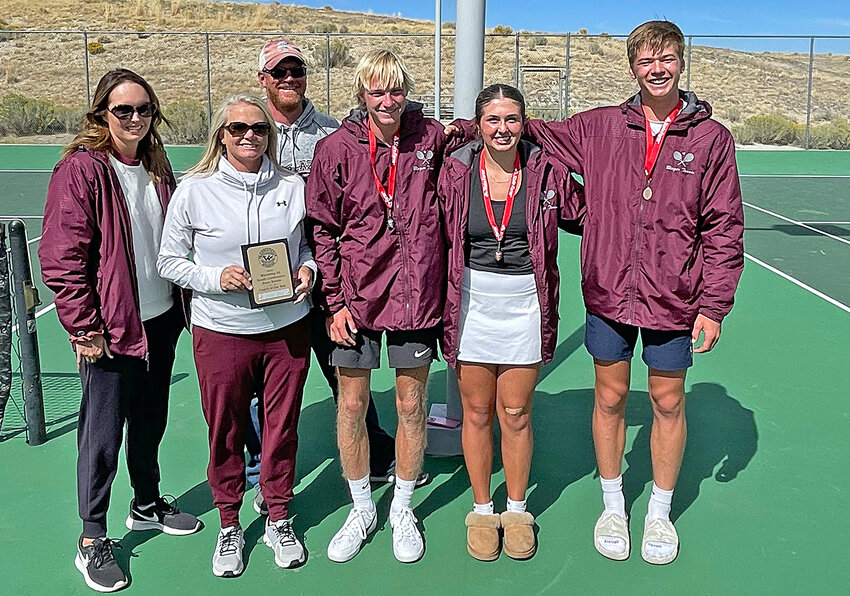
<path fill-rule="evenodd" d="M 328 545 L 328 558 L 340 563 L 357 554 L 377 522 L 364 416 L 385 333 L 399 420 L 393 553 L 413 562 L 425 550 L 410 502 L 425 449 L 425 382 L 444 298 L 436 183 L 447 138 L 439 122 L 408 103 L 412 85 L 392 52 L 364 55 L 354 84 L 360 109 L 319 141 L 307 180 L 321 293 L 337 344 L 331 363 L 339 376 L 340 460 L 354 501 Z"/>

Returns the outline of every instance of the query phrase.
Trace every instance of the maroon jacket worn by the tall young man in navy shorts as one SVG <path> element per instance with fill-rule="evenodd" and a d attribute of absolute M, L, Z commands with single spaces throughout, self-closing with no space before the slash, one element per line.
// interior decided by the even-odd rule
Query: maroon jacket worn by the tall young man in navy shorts
<path fill-rule="evenodd" d="M 650 329 L 721 322 L 744 267 L 744 215 L 732 135 L 711 106 L 680 92 L 645 200 L 640 94 L 526 133 L 584 178 L 581 246 L 587 310 Z"/>

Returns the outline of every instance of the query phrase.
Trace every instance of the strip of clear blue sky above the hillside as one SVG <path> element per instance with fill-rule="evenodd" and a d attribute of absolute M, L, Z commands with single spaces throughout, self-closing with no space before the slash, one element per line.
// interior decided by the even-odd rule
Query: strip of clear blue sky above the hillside
<path fill-rule="evenodd" d="M 434 0 L 281 0 L 304 6 L 401 14 L 434 18 Z M 666 5 L 666 6 L 665 6 Z M 454 21 L 455 0 L 443 0 L 443 21 Z M 568 0 L 488 0 L 487 27 L 566 33 L 627 34 L 651 19 L 667 18 L 686 35 L 850 35 L 848 0 L 715 0 L 714 2 L 653 2 L 642 8 L 634 0 L 608 2 Z"/>

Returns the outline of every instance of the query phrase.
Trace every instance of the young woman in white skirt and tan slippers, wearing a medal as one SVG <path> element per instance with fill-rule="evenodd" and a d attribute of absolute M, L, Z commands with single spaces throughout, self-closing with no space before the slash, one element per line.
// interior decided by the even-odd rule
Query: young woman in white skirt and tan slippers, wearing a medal
<path fill-rule="evenodd" d="M 555 348 L 558 225 L 578 219 L 581 195 L 564 166 L 520 141 L 525 102 L 518 90 L 487 87 L 475 117 L 481 140 L 445 160 L 438 186 L 449 249 L 443 352 L 457 371 L 475 498 L 467 550 L 497 558 L 503 528 L 505 553 L 526 559 L 536 550 L 534 517 L 525 510 L 532 397 Z M 508 492 L 501 516 L 490 493 L 494 415 Z"/>

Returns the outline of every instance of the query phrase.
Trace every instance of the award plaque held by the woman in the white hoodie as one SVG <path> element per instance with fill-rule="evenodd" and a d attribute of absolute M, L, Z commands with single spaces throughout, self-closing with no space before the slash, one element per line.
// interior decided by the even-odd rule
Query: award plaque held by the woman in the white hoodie
<path fill-rule="evenodd" d="M 295 300 L 295 282 L 286 239 L 242 245 L 242 259 L 251 276 L 251 308 Z"/>

